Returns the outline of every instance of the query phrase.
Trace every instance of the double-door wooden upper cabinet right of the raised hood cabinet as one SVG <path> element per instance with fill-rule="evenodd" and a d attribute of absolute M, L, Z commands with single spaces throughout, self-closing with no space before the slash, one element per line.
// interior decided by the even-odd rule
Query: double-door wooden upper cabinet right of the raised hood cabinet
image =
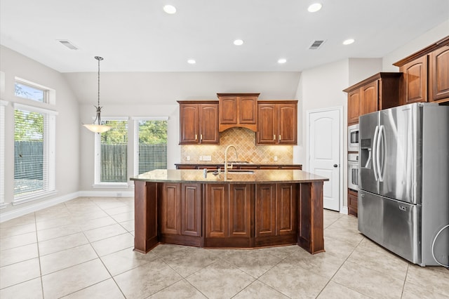
<path fill-rule="evenodd" d="M 297 100 L 257 103 L 256 144 L 297 144 Z"/>

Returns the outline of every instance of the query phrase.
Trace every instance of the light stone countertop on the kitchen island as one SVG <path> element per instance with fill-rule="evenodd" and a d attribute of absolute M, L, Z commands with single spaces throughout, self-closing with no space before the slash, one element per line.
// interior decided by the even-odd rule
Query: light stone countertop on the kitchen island
<path fill-rule="evenodd" d="M 130 180 L 147 182 L 192 182 L 192 183 L 273 183 L 273 182 L 324 182 L 328 178 L 299 170 L 251 170 L 229 171 L 214 175 L 209 171 L 206 176 L 202 169 L 158 169 L 142 173 Z"/>

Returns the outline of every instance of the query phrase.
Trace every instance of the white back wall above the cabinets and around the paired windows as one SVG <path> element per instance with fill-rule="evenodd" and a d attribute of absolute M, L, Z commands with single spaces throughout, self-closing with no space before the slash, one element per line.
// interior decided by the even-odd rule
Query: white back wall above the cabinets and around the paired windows
<path fill-rule="evenodd" d="M 96 74 L 64 74 L 81 102 L 80 123 L 88 124 L 95 117 L 97 101 Z M 86 78 L 93 81 L 88 86 Z M 260 93 L 260 100 L 295 100 L 300 72 L 116 72 L 101 73 L 100 104 L 102 117 L 169 117 L 167 167 L 179 163 L 179 105 L 177 100 L 218 100 L 217 93 Z M 92 85 L 92 84 L 91 84 Z M 91 91 L 88 91 L 91 88 Z M 92 90 L 95 89 L 95 90 Z M 133 124 L 130 119 L 130 132 Z M 94 134 L 79 127 L 80 190 L 82 194 L 110 191 L 109 194 L 131 192 L 128 188 L 93 187 Z M 129 136 L 133 138 L 131 134 Z M 129 142 L 132 145 L 132 142 Z M 133 148 L 128 147 L 128 174 L 133 175 Z M 111 193 L 112 192 L 112 193 Z"/>

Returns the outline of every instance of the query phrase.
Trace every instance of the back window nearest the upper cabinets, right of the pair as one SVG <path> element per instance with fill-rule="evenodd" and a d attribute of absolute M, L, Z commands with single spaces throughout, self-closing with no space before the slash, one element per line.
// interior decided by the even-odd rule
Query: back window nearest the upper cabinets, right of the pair
<path fill-rule="evenodd" d="M 168 117 L 135 119 L 136 175 L 167 168 L 167 120 Z"/>

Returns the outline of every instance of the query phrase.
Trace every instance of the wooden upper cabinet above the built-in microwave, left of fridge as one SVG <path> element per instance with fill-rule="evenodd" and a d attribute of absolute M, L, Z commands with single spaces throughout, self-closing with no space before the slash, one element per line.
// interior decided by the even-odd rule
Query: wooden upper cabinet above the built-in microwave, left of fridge
<path fill-rule="evenodd" d="M 358 117 L 400 104 L 402 73 L 381 72 L 344 89 L 348 93 L 348 125 Z"/>

